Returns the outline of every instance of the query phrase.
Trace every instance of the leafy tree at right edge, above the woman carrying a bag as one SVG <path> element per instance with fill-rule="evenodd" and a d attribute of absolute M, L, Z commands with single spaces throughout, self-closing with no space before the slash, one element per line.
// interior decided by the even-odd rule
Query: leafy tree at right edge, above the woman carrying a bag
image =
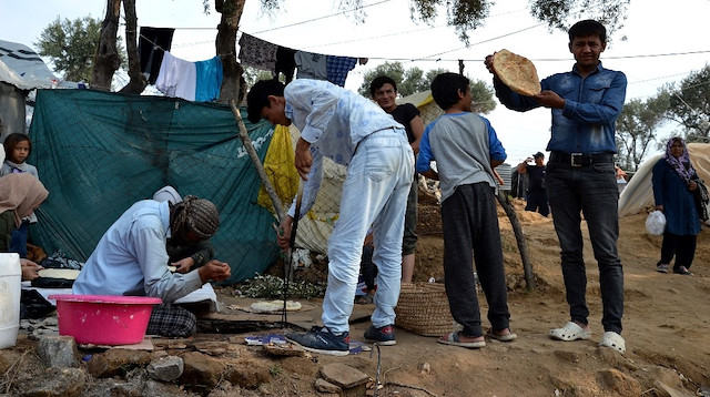
<path fill-rule="evenodd" d="M 668 118 L 682 125 L 688 142 L 710 142 L 710 65 L 668 90 Z"/>

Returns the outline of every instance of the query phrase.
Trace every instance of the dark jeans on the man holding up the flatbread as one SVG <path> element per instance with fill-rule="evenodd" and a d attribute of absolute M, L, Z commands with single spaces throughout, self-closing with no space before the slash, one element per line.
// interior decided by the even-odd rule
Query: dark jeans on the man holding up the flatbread
<path fill-rule="evenodd" d="M 588 324 L 585 292 L 587 274 L 582 257 L 581 215 L 599 267 L 604 329 L 621 334 L 623 268 L 617 253 L 619 191 L 613 163 L 570 166 L 547 164 L 545 176 L 555 231 L 561 248 L 562 276 L 571 320 Z"/>

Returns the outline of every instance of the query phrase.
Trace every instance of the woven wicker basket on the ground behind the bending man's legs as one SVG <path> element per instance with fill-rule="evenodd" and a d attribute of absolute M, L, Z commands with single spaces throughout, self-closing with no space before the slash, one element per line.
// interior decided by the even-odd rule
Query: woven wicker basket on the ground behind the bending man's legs
<path fill-rule="evenodd" d="M 395 325 L 424 336 L 452 332 L 454 318 L 442 283 L 403 284 Z"/>

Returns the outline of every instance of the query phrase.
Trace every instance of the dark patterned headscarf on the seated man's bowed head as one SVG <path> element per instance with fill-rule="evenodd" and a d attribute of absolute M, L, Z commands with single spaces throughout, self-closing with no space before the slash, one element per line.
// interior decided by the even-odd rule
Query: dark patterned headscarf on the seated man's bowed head
<path fill-rule="evenodd" d="M 192 231 L 201 240 L 207 240 L 220 228 L 220 213 L 211 201 L 187 195 L 172 206 L 170 228 L 175 234 Z"/>

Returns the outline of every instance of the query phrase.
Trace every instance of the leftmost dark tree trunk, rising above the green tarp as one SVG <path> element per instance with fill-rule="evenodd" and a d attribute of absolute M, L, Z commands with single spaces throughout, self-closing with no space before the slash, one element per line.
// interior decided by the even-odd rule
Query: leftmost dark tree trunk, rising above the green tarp
<path fill-rule="evenodd" d="M 121 58 L 115 45 L 120 16 L 121 0 L 106 0 L 106 16 L 101 23 L 101 41 L 93 62 L 91 88 L 94 90 L 111 91 L 113 73 L 121 67 Z"/>

